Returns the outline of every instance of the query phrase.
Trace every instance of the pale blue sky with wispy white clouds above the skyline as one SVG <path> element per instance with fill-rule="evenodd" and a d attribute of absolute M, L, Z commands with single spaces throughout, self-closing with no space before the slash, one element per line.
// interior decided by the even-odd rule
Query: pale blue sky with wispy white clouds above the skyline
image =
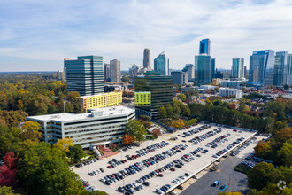
<path fill-rule="evenodd" d="M 64 58 L 117 58 L 121 69 L 151 66 L 162 51 L 170 68 L 194 64 L 211 39 L 216 67 L 252 51 L 292 52 L 292 0 L 9 0 L 0 6 L 0 72 L 62 70 Z"/>

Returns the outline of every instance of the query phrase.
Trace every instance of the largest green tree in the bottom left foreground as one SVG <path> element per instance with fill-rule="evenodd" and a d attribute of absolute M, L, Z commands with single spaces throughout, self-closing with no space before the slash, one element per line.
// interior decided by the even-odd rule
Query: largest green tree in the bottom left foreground
<path fill-rule="evenodd" d="M 45 142 L 29 147 L 19 159 L 19 179 L 29 194 L 81 194 L 84 189 L 65 153 Z"/>

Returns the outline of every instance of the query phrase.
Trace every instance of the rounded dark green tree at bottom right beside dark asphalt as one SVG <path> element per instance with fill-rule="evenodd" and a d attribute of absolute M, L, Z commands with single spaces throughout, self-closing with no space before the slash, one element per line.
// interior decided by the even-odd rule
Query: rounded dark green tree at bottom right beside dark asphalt
<path fill-rule="evenodd" d="M 258 163 L 248 172 L 249 187 L 255 188 L 260 191 L 262 190 L 262 188 L 265 187 L 267 183 L 270 183 L 272 181 L 272 175 L 275 174 L 276 168 L 274 168 L 271 163 Z"/>

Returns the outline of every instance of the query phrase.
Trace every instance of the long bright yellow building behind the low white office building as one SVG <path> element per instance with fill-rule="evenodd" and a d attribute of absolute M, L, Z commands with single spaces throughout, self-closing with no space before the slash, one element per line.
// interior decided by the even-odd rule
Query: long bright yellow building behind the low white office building
<path fill-rule="evenodd" d="M 92 108 L 116 106 L 122 102 L 122 91 L 100 93 L 94 96 L 81 96 L 84 111 Z"/>

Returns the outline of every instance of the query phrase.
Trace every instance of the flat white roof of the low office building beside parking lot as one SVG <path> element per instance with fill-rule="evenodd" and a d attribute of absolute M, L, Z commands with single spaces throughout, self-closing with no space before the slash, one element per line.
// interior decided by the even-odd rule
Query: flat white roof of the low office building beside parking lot
<path fill-rule="evenodd" d="M 96 119 L 98 117 L 115 116 L 134 112 L 134 109 L 126 106 L 111 106 L 88 109 L 90 113 L 55 113 L 40 116 L 27 116 L 27 120 L 34 119 L 37 121 L 79 121 L 83 119 Z M 102 113 L 99 116 L 91 117 L 91 112 Z"/>

